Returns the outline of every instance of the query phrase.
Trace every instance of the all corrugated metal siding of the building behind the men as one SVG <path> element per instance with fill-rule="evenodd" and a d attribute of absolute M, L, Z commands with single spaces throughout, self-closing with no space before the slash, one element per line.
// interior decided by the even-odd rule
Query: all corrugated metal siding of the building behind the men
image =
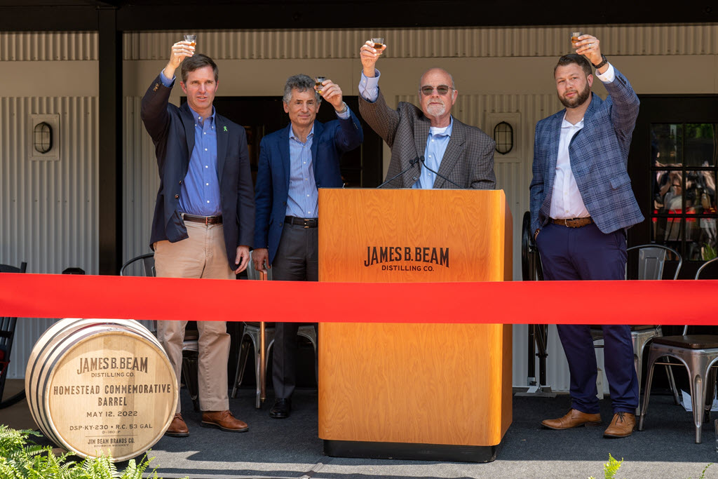
<path fill-rule="evenodd" d="M 580 27 L 579 27 L 580 28 Z M 382 32 L 386 59 L 556 57 L 566 53 L 573 27 L 393 29 Z M 585 27 L 605 42 L 606 55 L 717 55 L 718 25 L 641 25 Z M 348 59 L 373 30 L 262 30 L 198 32 L 200 50 L 220 60 Z M 182 32 L 136 32 L 123 36 L 125 60 L 165 60 L 168 45 Z M 95 32 L 0 33 L 0 61 L 76 61 L 98 59 Z M 419 60 L 421 61 L 421 60 Z M 32 81 L 30 79 L 29 81 Z M 93 79 L 92 81 L 96 81 Z M 414 81 L 412 78 L 411 81 Z M 675 92 L 680 93 L 680 92 Z M 80 93 L 81 94 L 81 93 Z M 135 94 L 135 93 L 133 93 Z M 252 94 L 248 91 L 246 94 Z M 98 269 L 97 98 L 0 98 L 0 262 L 28 261 L 31 272 L 58 273 L 80 266 Z M 415 96 L 397 97 L 416 101 Z M 159 178 L 154 149 L 139 119 L 136 96 L 125 99 L 123 258 L 149 251 L 151 213 Z M 553 92 L 522 95 L 461 95 L 454 112 L 467 124 L 490 128 L 489 116 L 520 113 L 513 124 L 516 151 L 495 155 L 498 187 L 505 190 L 514 221 L 514 279 L 520 279 L 519 234 L 528 210 L 533 128 L 560 108 Z M 62 159 L 31 162 L 27 116 L 60 113 Z M 526 318 L 526 322 L 530 318 Z M 24 320 L 14 346 L 11 377 L 24 375 L 29 348 L 52 320 Z M 568 389 L 568 372 L 555 333 L 549 338 L 549 383 Z M 526 381 L 526 326 L 514 328 L 513 381 Z M 601 361 L 601 360 L 600 360 Z"/>

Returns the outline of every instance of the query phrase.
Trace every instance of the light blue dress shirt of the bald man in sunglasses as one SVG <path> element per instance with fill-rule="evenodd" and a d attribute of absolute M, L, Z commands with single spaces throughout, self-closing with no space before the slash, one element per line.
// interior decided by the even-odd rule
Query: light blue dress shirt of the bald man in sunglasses
<path fill-rule="evenodd" d="M 361 73 L 361 80 L 359 80 L 359 94 L 366 101 L 374 103 L 379 98 L 379 77 L 381 73 L 379 70 L 374 70 L 374 77 L 368 78 Z M 429 136 L 426 137 L 426 149 L 424 149 L 424 162 L 426 166 L 433 169 L 435 172 L 439 171 L 439 166 L 442 164 L 442 158 L 444 158 L 444 152 L 447 151 L 449 145 L 449 139 L 451 139 L 452 129 L 454 128 L 454 117 L 451 117 L 449 126 L 444 128 L 436 128 L 432 126 L 429 129 Z M 419 180 L 412 185 L 413 188 L 424 188 L 426 190 L 434 187 L 434 180 L 437 179 L 437 175 L 430 172 L 428 168 L 424 168 L 421 165 L 421 174 Z"/>

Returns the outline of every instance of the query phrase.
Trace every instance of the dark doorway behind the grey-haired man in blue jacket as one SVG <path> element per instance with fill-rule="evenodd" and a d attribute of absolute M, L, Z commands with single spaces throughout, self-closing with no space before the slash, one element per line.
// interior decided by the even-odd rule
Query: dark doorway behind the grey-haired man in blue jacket
<path fill-rule="evenodd" d="M 359 114 L 358 97 L 345 96 L 344 101 L 358 116 L 364 131 L 363 144 L 342 157 L 341 172 L 345 186 L 377 187 L 381 184 L 383 173 L 381 137 L 374 133 Z M 335 120 L 337 116 L 334 109 L 329 103 L 324 103 L 317 114 L 317 120 L 322 123 Z M 284 113 L 281 96 L 223 96 L 215 98 L 214 105 L 220 114 L 246 129 L 252 177 L 256 180 L 259 142 L 262 136 L 289 124 L 289 116 Z"/>

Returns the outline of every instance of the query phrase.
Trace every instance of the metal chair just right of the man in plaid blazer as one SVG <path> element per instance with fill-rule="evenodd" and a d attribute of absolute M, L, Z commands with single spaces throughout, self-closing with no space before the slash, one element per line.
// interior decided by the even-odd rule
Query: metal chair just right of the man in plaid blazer
<path fill-rule="evenodd" d="M 678 259 L 678 266 L 676 266 L 676 272 L 673 274 L 672 279 L 678 279 L 681 266 L 683 265 L 683 258 L 681 258 L 681 254 L 673 248 L 651 243 L 631 246 L 626 251 L 638 251 L 638 279 L 663 279 L 663 266 L 666 264 L 666 257 L 668 253 L 672 253 Z M 626 271 L 626 276 L 628 277 L 628 271 Z M 600 326 L 592 326 L 591 335 L 594 342 L 603 340 L 603 330 Z M 635 409 L 635 414 L 640 414 L 640 382 L 643 376 L 643 351 L 649 341 L 653 338 L 663 336 L 663 331 L 661 330 L 661 325 L 632 325 L 630 326 L 630 336 L 631 340 L 633 340 L 633 366 L 635 366 L 635 372 L 638 376 L 639 403 Z M 603 345 L 596 345 L 596 348 L 602 347 Z M 673 379 L 673 372 L 668 366 L 666 366 L 666 373 L 668 374 L 668 383 L 671 385 L 671 391 L 673 391 L 673 401 L 675 401 L 676 404 L 680 404 L 676 381 Z"/>

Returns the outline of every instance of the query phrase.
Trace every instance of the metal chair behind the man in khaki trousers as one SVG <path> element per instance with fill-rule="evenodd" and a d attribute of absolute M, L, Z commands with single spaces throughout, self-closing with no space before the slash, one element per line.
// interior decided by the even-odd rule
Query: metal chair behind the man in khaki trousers
<path fill-rule="evenodd" d="M 139 267 L 140 265 L 141 267 Z M 127 261 L 120 268 L 120 276 L 157 276 L 157 271 L 154 269 L 154 253 L 141 254 Z M 157 327 L 154 327 L 152 332 L 157 335 Z M 195 411 L 200 410 L 199 386 L 197 384 L 199 338 L 197 331 L 186 330 L 185 339 L 182 341 L 182 382 L 190 392 Z"/>

